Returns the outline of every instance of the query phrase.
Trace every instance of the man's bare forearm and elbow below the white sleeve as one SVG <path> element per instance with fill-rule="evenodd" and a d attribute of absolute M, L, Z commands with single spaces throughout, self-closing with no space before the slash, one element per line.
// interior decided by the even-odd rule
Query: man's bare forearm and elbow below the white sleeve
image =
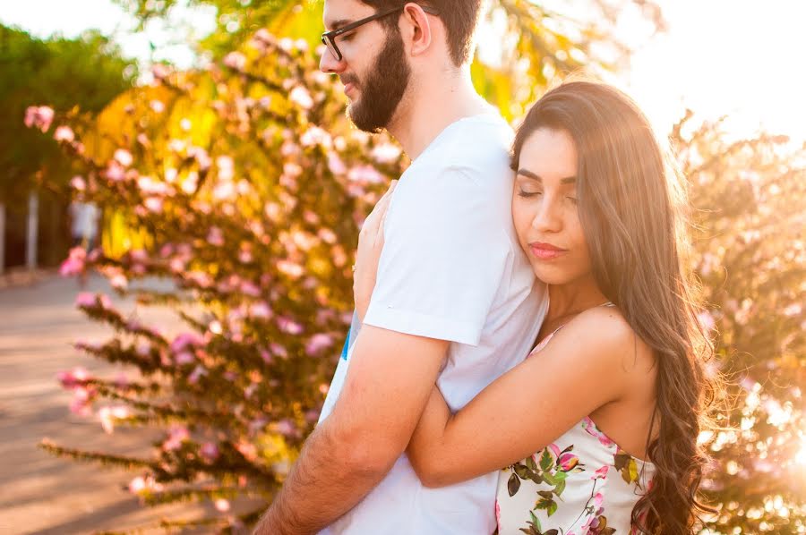
<path fill-rule="evenodd" d="M 308 437 L 255 535 L 320 531 L 381 482 L 406 449 L 448 345 L 362 327 L 339 401 Z"/>

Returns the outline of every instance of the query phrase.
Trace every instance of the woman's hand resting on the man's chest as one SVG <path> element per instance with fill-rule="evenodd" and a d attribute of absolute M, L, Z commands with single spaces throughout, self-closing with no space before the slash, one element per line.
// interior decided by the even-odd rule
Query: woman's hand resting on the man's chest
<path fill-rule="evenodd" d="M 353 273 L 353 294 L 356 300 L 356 313 L 359 321 L 364 321 L 366 310 L 369 308 L 370 298 L 375 287 L 375 277 L 378 275 L 378 261 L 383 250 L 383 222 L 389 210 L 392 193 L 398 181 L 393 180 L 389 190 L 383 194 L 381 200 L 375 205 L 372 213 L 364 221 L 361 232 L 358 234 L 358 252 L 356 253 L 356 266 Z"/>

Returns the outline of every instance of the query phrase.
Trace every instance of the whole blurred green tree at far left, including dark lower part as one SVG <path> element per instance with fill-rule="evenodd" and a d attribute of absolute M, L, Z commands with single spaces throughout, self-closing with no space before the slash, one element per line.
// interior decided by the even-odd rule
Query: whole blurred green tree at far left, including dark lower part
<path fill-rule="evenodd" d="M 136 77 L 133 61 L 123 58 L 99 33 L 43 40 L 0 25 L 0 116 L 4 122 L 0 128 L 0 205 L 8 218 L 5 265 L 23 262 L 32 192 L 39 194 L 43 232 L 38 256 L 42 262 L 57 264 L 70 240 L 65 224 L 73 163 L 55 140 L 25 127 L 26 108 L 48 103 L 59 112 L 80 109 L 95 114 L 131 88 Z M 47 176 L 47 182 L 40 180 L 42 176 Z"/>

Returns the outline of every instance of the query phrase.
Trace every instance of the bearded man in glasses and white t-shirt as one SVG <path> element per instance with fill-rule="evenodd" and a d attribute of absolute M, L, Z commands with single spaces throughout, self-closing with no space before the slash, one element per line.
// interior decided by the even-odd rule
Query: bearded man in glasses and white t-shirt
<path fill-rule="evenodd" d="M 360 334 L 256 533 L 494 530 L 497 474 L 424 488 L 404 454 L 434 382 L 461 408 L 523 360 L 547 305 L 512 229 L 510 128 L 470 81 L 480 3 L 325 1 L 322 71 L 356 126 L 388 130 L 412 165 L 386 198 Z"/>

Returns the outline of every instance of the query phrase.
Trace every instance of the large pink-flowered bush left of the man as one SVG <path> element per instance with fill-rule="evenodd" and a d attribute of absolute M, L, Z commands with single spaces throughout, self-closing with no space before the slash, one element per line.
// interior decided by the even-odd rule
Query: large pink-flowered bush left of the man
<path fill-rule="evenodd" d="M 73 250 L 64 274 L 89 262 L 118 292 L 175 307 L 187 331 L 169 336 L 79 294 L 118 335 L 76 346 L 137 374 L 65 372 L 73 411 L 95 406 L 110 432 L 157 425 L 166 436 L 147 458 L 44 446 L 141 471 L 130 489 L 149 504 L 262 498 L 225 527 L 254 520 L 313 429 L 352 310 L 356 224 L 401 172 L 399 148 L 351 130 L 344 97 L 315 67 L 304 41 L 262 31 L 207 72 L 158 66 L 154 87 L 95 123 L 56 117 L 81 132 L 63 140 L 85 168 L 73 185 L 150 243 L 120 258 Z M 177 290 L 130 287 L 143 276 Z"/>

